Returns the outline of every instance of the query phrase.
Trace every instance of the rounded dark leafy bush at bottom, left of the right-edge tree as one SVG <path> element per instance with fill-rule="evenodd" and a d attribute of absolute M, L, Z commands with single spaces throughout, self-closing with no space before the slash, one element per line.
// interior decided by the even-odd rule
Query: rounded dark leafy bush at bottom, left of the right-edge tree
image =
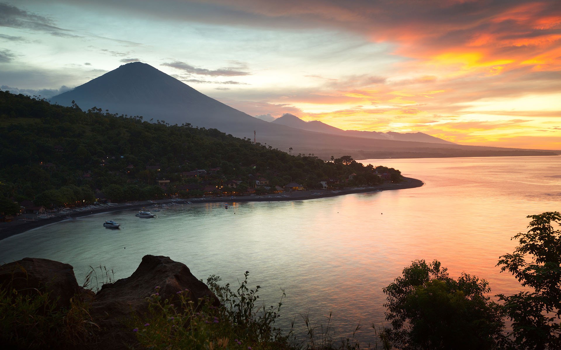
<path fill-rule="evenodd" d="M 489 283 L 463 273 L 457 281 L 436 260 L 415 260 L 403 277 L 384 288 L 387 337 L 397 348 L 496 349 L 507 339 L 500 305 L 489 300 Z"/>

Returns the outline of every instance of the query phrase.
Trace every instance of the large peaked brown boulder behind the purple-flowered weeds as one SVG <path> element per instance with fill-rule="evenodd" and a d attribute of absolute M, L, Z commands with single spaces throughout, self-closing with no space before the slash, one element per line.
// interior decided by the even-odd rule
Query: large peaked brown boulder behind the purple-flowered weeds
<path fill-rule="evenodd" d="M 91 315 L 107 328 L 123 328 L 123 320 L 130 317 L 131 311 L 139 315 L 148 311 L 146 297 L 157 286 L 162 300 L 170 298 L 173 302 L 177 292 L 187 289 L 191 300 L 208 297 L 215 306 L 219 305 L 218 298 L 185 264 L 167 256 L 145 255 L 130 277 L 103 285 L 92 303 Z"/>

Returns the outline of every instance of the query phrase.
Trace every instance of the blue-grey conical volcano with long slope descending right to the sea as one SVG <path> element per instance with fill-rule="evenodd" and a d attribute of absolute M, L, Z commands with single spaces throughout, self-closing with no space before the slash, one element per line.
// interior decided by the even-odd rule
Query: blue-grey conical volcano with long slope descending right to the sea
<path fill-rule="evenodd" d="M 461 146 L 435 143 L 434 140 L 419 142 L 374 138 L 375 132 L 341 130 L 321 122 L 306 123 L 301 120 L 302 123 L 310 124 L 306 126 L 314 127 L 314 130 L 269 123 L 206 96 L 141 62 L 123 64 L 71 91 L 52 97 L 50 101 L 64 106 L 70 106 L 75 101 L 81 109 L 95 106 L 110 113 L 141 115 L 144 120 L 153 119 L 154 122 L 165 120 L 178 125 L 190 123 L 196 127 L 215 128 L 240 138 L 253 139 L 255 130 L 256 140 L 260 144 L 266 143 L 286 152 L 292 148 L 293 154 L 314 153 L 324 159 L 332 155 L 351 155 L 360 159 L 556 154 L 542 150 Z M 393 138 L 398 136 L 397 133 L 388 135 Z"/>

